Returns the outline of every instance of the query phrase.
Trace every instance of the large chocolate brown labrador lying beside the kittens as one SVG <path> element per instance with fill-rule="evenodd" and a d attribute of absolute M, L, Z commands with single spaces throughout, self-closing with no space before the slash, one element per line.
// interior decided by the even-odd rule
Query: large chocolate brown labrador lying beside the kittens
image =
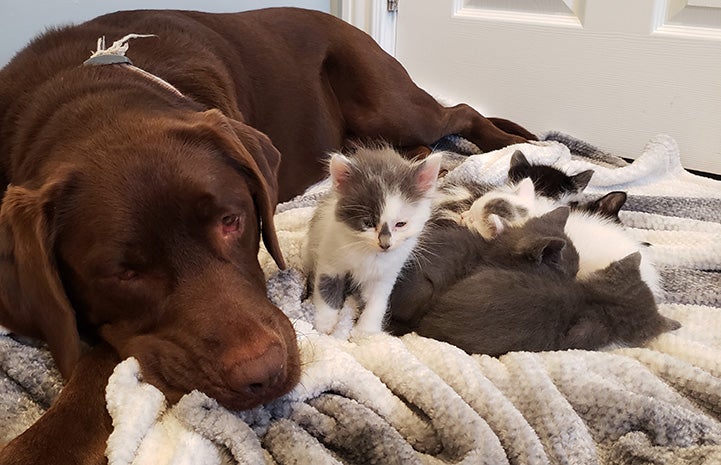
<path fill-rule="evenodd" d="M 128 34 L 152 36 L 84 64 Z M 277 201 L 331 150 L 448 134 L 484 150 L 533 138 L 442 107 L 327 14 L 129 11 L 34 40 L 0 71 L 0 324 L 47 342 L 69 381 L 4 462 L 102 462 L 103 388 L 126 357 L 171 402 L 288 392 L 296 337 L 257 260 L 262 238 L 284 266 Z"/>

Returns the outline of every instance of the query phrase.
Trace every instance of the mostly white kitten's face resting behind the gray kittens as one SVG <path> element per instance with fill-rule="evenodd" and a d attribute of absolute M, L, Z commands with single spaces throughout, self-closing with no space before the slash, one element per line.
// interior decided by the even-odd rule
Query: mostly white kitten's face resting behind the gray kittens
<path fill-rule="evenodd" d="M 461 224 L 490 240 L 505 227 L 524 224 L 534 205 L 533 182 L 526 178 L 510 192 L 497 190 L 481 196 L 461 213 Z"/>

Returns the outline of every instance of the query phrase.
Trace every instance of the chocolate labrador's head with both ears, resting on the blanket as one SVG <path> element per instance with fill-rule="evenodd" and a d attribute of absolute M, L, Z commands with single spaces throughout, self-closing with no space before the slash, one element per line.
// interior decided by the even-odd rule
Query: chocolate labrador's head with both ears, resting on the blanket
<path fill-rule="evenodd" d="M 0 211 L 0 324 L 47 341 L 64 376 L 80 334 L 136 357 L 175 401 L 233 409 L 298 381 L 295 332 L 266 297 L 280 155 L 220 112 L 128 123 L 78 143 Z"/>

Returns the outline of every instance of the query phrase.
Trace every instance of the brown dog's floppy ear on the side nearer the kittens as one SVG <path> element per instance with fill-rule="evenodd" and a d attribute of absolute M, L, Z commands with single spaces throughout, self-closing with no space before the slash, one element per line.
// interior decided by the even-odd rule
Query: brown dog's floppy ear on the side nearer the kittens
<path fill-rule="evenodd" d="M 226 117 L 219 110 L 208 110 L 202 118 L 223 145 L 226 154 L 247 168 L 258 183 L 254 198 L 260 210 L 263 243 L 280 269 L 285 260 L 275 232 L 273 214 L 278 203 L 280 152 L 262 132 Z"/>

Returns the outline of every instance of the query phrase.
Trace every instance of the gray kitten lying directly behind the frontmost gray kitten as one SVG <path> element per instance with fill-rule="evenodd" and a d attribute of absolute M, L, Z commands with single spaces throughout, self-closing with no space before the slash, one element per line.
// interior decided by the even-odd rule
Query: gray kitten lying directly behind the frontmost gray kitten
<path fill-rule="evenodd" d="M 480 267 L 573 278 L 578 254 L 564 233 L 568 214 L 568 207 L 558 208 L 492 241 L 455 223 L 429 223 L 391 293 L 389 330 L 413 331 L 440 295 Z"/>

